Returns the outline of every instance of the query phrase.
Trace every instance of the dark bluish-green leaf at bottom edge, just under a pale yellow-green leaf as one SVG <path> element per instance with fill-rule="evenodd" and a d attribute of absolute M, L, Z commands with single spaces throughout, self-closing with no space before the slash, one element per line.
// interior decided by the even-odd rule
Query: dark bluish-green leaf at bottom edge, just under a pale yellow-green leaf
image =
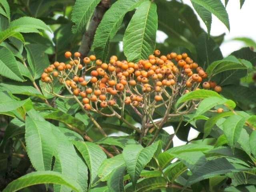
<path fill-rule="evenodd" d="M 126 166 L 119 166 L 115 168 L 108 178 L 108 190 L 112 192 L 125 192 L 124 191 L 124 174 Z"/>

